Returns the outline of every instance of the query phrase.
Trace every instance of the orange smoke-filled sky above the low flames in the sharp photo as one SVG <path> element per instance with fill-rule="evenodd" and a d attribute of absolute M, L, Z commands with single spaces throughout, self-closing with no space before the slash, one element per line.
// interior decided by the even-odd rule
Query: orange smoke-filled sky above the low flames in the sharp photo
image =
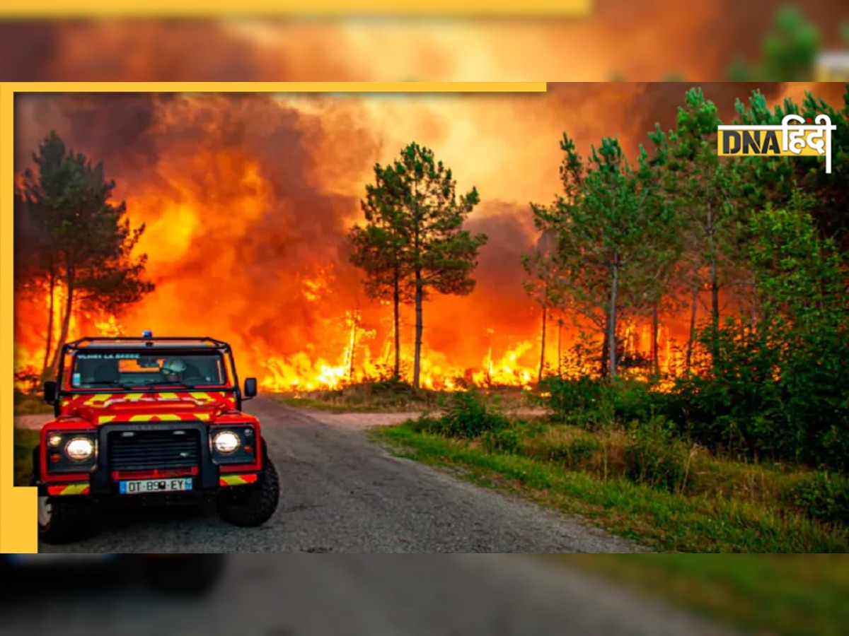
<path fill-rule="evenodd" d="M 755 87 L 703 86 L 726 114 Z M 357 305 L 363 328 L 378 332 L 370 354 L 380 355 L 390 312 L 363 298 L 346 234 L 374 163 L 415 140 L 453 169 L 458 190 L 481 192 L 469 229 L 489 242 L 475 293 L 425 308 L 432 363 L 480 367 L 491 342 L 498 359 L 537 338 L 520 254 L 536 241 L 530 202 L 547 203 L 559 186 L 563 132 L 583 153 L 610 135 L 633 153 L 655 121 L 672 126 L 688 87 L 560 84 L 546 94 L 463 97 L 21 95 L 15 169 L 55 130 L 117 181 L 132 221 L 146 224 L 139 250 L 157 285 L 122 319 L 132 332 L 227 338 L 252 371 L 274 357 L 288 360 L 284 375 L 292 376 L 304 365 L 342 364 L 345 313 Z M 773 99 L 814 88 L 836 100 L 843 89 L 758 87 Z M 533 365 L 536 346 L 526 347 L 523 364 Z"/>

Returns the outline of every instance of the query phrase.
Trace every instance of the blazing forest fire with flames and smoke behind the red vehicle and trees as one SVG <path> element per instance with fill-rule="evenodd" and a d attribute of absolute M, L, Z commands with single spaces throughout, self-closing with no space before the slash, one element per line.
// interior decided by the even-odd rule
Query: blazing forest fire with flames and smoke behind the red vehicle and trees
<path fill-rule="evenodd" d="M 621 90 L 616 85 L 610 89 Z M 44 135 L 56 130 L 69 148 L 103 162 L 106 175 L 116 181 L 115 198 L 127 203 L 132 225 L 145 225 L 136 251 L 148 256 L 146 276 L 155 291 L 118 316 L 76 307 L 68 337 L 138 335 L 149 329 L 163 336 L 220 338 L 233 344 L 242 374 L 256 376 L 262 388 L 273 391 L 332 389 L 389 377 L 394 360 L 391 305 L 365 296 L 362 274 L 348 261 L 348 232 L 361 218 L 363 188 L 373 177 L 374 162 L 389 160 L 391 150 L 414 131 L 434 126 L 438 131 L 463 109 L 468 118 L 477 109 L 517 109 L 523 103 L 498 104 L 494 99 L 486 104 L 444 100 L 416 110 L 413 100 L 21 98 L 16 106 L 16 170 L 24 170 Z M 395 121 L 410 123 L 398 130 L 381 128 L 377 122 L 386 112 Z M 492 116 L 485 123 L 494 123 Z M 519 133 L 524 135 L 526 126 Z M 551 130 L 538 136 L 544 132 L 556 141 L 564 122 L 548 118 L 540 126 Z M 433 134 L 436 148 L 445 151 L 438 154 L 455 163 L 458 178 L 463 178 L 464 166 L 453 159 L 462 155 L 451 137 L 444 131 Z M 594 129 L 585 134 L 587 144 L 595 142 Z M 503 144 L 509 146 L 511 139 L 505 137 Z M 465 142 L 461 136 L 455 143 L 464 147 Z M 380 149 L 384 146 L 390 149 Z M 543 175 L 556 170 L 559 161 L 556 143 L 547 146 L 552 147 L 548 154 L 537 159 Z M 511 203 L 516 195 L 505 191 L 500 173 L 473 177 L 481 192 L 492 192 L 492 197 L 483 199 L 469 224 L 475 232 L 485 232 L 489 242 L 473 274 L 473 293 L 436 294 L 424 304 L 421 384 L 443 390 L 470 384 L 530 387 L 539 377 L 542 310 L 522 288 L 520 254 L 534 248 L 536 233 L 528 206 Z M 534 198 L 550 200 L 556 181 L 540 181 Z M 19 387 L 44 368 L 50 306 L 46 289 L 24 285 L 16 294 Z M 61 289 L 55 294 L 51 346 L 60 337 L 63 306 Z M 402 308 L 406 378 L 413 360 L 412 313 L 408 306 Z M 571 348 L 582 331 L 599 336 L 598 327 L 581 329 L 575 319 L 568 312 L 548 317 L 548 372 L 596 371 L 598 361 L 578 360 Z M 623 327 L 626 354 L 645 357 L 649 321 Z M 680 368 L 688 337 L 689 320 L 661 316 L 661 371 Z M 20 379 L 27 373 L 29 380 Z"/>

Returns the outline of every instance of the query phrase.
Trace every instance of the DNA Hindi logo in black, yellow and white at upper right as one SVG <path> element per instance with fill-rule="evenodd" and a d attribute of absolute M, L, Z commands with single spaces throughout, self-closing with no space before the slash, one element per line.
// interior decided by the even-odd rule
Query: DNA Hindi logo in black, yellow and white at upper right
<path fill-rule="evenodd" d="M 835 130 L 827 114 L 818 114 L 813 121 L 788 114 L 780 126 L 719 126 L 717 153 L 720 157 L 825 157 L 825 172 L 830 175 Z"/>

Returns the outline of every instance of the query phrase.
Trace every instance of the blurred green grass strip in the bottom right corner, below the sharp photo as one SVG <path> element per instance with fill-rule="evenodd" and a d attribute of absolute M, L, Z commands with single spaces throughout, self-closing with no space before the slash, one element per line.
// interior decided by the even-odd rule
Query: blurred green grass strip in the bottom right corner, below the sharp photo
<path fill-rule="evenodd" d="M 839 636 L 849 622 L 846 555 L 544 555 L 756 633 Z"/>

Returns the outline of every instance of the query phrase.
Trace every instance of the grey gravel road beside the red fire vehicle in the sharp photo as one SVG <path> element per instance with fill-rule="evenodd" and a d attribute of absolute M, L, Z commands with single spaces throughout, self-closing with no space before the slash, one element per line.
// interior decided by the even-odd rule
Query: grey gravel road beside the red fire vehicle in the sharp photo
<path fill-rule="evenodd" d="M 254 399 L 283 494 L 252 529 L 214 510 L 117 511 L 94 538 L 42 552 L 601 553 L 638 546 L 402 460 L 368 441 L 364 424 L 392 417 L 333 416 Z M 397 421 L 398 416 L 394 417 Z M 118 514 L 120 513 L 120 514 Z"/>

